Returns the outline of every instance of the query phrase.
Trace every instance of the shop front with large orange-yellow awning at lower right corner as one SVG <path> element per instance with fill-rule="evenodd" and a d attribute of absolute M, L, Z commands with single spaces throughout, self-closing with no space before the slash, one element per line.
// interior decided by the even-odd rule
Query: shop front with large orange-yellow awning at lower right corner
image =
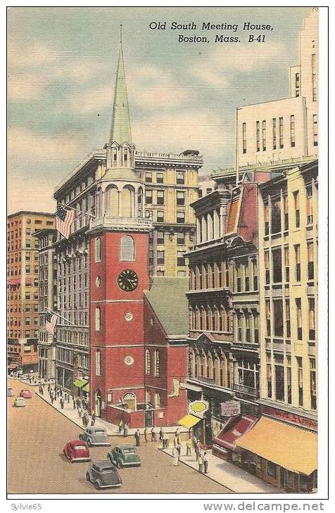
<path fill-rule="evenodd" d="M 317 433 L 261 417 L 236 440 L 241 466 L 287 493 L 317 489 Z"/>

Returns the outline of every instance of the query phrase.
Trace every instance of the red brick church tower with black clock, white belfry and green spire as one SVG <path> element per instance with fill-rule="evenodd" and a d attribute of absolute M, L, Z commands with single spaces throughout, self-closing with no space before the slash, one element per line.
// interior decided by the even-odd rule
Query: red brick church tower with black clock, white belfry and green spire
<path fill-rule="evenodd" d="M 144 294 L 148 289 L 145 183 L 134 172 L 134 145 L 123 62 L 118 56 L 106 171 L 97 184 L 90 228 L 91 409 L 118 424 L 136 418 L 144 393 Z"/>

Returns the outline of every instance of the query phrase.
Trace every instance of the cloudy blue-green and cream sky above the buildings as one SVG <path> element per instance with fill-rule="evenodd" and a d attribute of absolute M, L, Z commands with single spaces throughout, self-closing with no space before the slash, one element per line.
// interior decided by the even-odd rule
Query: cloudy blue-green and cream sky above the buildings
<path fill-rule="evenodd" d="M 198 149 L 234 165 L 236 108 L 289 96 L 308 7 L 35 7 L 8 10 L 8 213 L 53 212 L 53 191 L 108 140 L 119 27 L 138 151 Z M 149 24 L 166 22 L 166 30 Z M 196 30 L 170 30 L 172 22 Z M 203 22 L 239 24 L 201 30 Z M 241 30 L 244 23 L 273 30 Z M 265 34 L 248 43 L 249 33 Z M 209 42 L 178 42 L 179 34 Z M 215 34 L 238 43 L 214 43 Z"/>

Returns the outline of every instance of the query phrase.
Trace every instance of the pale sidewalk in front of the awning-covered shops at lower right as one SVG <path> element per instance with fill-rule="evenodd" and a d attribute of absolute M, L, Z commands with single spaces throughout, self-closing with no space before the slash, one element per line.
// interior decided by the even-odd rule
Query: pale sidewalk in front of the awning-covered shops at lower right
<path fill-rule="evenodd" d="M 184 444 L 182 444 L 182 451 L 184 451 Z M 167 455 L 172 456 L 172 448 L 161 449 Z M 184 463 L 188 467 L 198 471 L 198 462 L 194 451 L 191 456 L 180 457 L 180 462 Z M 249 474 L 247 471 L 237 467 L 236 465 L 221 460 L 220 458 L 213 456 L 212 451 L 207 451 L 208 455 L 208 473 L 204 474 L 209 479 L 216 481 L 216 483 L 222 484 L 234 493 L 279 493 L 279 490 L 270 484 L 265 483 L 262 479 L 259 479 L 253 474 Z"/>

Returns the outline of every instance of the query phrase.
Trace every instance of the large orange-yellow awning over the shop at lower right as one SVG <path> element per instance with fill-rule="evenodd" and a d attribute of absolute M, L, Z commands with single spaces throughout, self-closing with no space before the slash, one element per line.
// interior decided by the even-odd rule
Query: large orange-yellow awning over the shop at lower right
<path fill-rule="evenodd" d="M 317 469 L 317 434 L 267 417 L 261 417 L 236 446 L 291 472 L 309 476 Z"/>

